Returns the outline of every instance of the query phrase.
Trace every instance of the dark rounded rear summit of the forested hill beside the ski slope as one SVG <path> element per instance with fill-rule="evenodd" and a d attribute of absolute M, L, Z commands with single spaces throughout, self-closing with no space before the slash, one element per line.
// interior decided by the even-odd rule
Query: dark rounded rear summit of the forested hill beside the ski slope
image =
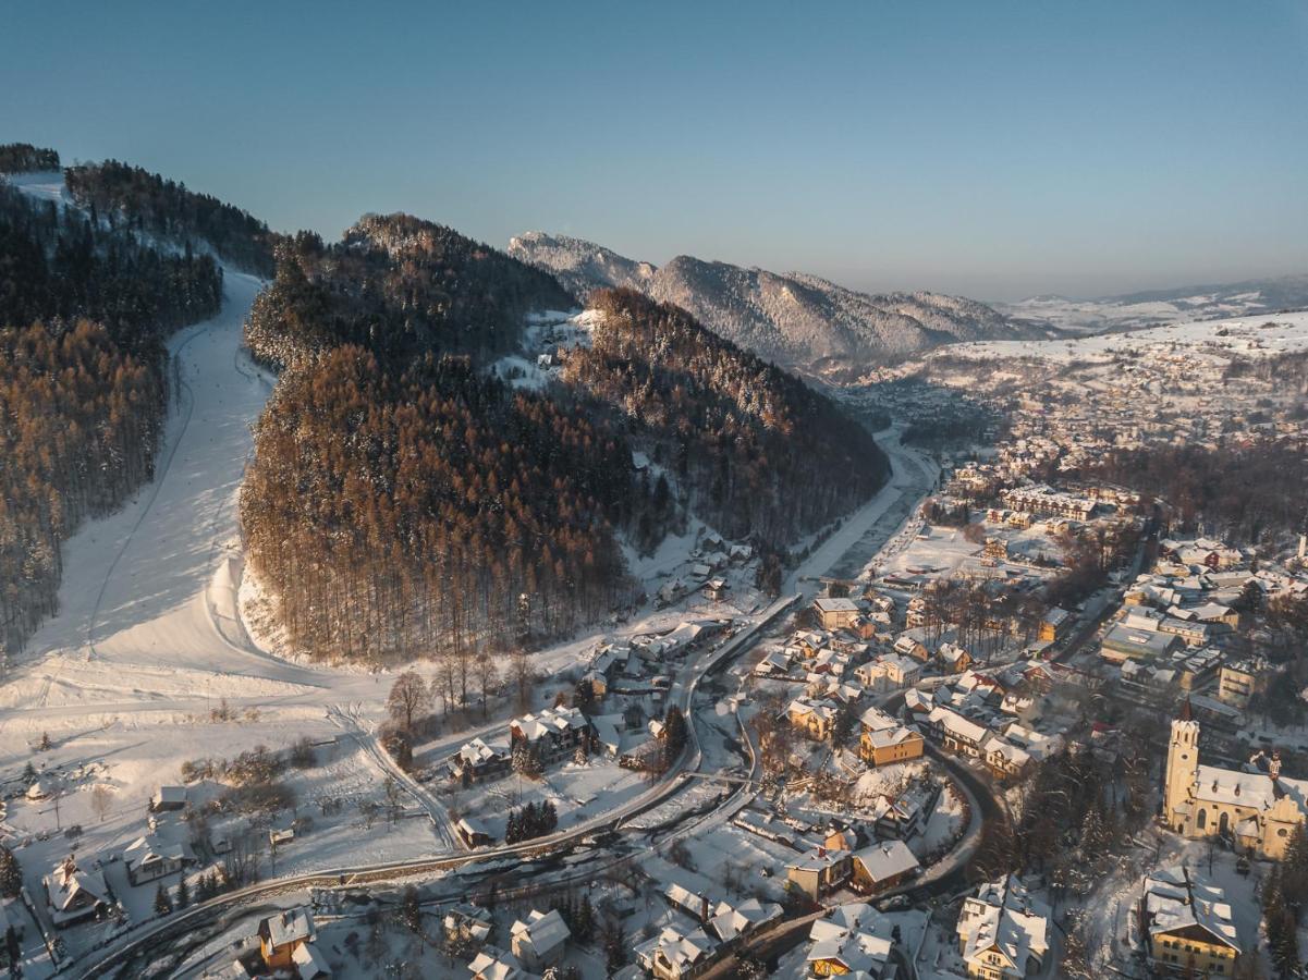
<path fill-rule="evenodd" d="M 269 366 L 340 344 L 383 360 L 513 349 L 528 311 L 574 300 L 548 272 L 408 215 L 370 215 L 335 245 L 301 232 L 277 249 L 246 340 Z"/>

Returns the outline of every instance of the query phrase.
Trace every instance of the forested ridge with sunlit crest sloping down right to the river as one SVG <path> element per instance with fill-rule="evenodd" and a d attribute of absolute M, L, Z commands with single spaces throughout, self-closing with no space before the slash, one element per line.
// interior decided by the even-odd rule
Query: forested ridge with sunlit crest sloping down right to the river
<path fill-rule="evenodd" d="M 564 379 L 598 399 L 676 495 L 730 538 L 781 546 L 867 500 L 889 471 L 867 429 L 782 369 L 632 289 L 598 290 Z"/>

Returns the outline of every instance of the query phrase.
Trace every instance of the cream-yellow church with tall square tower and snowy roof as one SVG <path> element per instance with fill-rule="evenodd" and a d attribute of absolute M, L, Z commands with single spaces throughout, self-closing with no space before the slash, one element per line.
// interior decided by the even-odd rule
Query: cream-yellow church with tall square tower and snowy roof
<path fill-rule="evenodd" d="M 1240 852 L 1279 861 L 1308 814 L 1308 780 L 1282 777 L 1279 758 L 1262 752 L 1248 768 L 1254 771 L 1199 765 L 1199 722 L 1186 701 L 1167 750 L 1167 826 L 1186 837 L 1227 837 Z"/>

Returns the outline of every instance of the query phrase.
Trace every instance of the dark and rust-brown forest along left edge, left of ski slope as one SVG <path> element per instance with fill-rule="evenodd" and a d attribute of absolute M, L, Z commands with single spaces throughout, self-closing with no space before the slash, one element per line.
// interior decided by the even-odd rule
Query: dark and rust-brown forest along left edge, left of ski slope
<path fill-rule="evenodd" d="M 54 150 L 0 147 L 46 169 Z M 153 474 L 164 338 L 213 315 L 222 271 L 0 181 L 0 641 L 54 611 L 59 546 Z"/>

